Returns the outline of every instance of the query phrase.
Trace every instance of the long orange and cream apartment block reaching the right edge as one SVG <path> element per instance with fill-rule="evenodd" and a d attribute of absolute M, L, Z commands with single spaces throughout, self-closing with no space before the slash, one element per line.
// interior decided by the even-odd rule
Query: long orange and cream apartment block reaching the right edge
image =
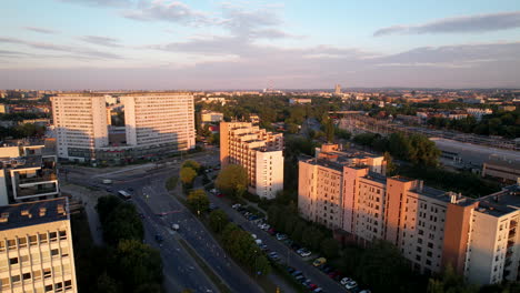
<path fill-rule="evenodd" d="M 384 176 L 381 156 L 326 144 L 299 162 L 301 215 L 361 244 L 386 240 L 412 267 L 439 273 L 451 264 L 478 284 L 519 280 L 520 186 L 473 200 Z"/>

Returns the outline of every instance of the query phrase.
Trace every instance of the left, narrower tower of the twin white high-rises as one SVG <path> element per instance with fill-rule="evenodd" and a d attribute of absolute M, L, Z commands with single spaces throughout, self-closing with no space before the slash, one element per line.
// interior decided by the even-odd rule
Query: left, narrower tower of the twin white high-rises
<path fill-rule="evenodd" d="M 109 144 L 104 94 L 66 93 L 51 101 L 58 156 L 96 159 L 94 150 Z"/>

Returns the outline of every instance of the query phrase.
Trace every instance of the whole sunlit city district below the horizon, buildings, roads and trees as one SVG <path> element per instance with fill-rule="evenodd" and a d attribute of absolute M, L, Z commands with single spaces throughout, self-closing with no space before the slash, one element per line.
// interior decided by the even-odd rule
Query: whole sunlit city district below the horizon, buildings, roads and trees
<path fill-rule="evenodd" d="M 520 292 L 520 90 L 0 102 L 1 292 Z"/>

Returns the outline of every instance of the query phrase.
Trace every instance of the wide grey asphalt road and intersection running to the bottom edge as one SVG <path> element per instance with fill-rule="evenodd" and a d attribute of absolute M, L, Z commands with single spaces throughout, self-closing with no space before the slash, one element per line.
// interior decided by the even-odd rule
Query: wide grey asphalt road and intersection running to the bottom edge
<path fill-rule="evenodd" d="M 214 154 L 193 155 L 190 159 L 204 164 L 218 163 L 218 156 Z M 166 181 L 179 172 L 178 163 L 152 170 L 131 166 L 122 172 L 102 172 L 102 169 L 71 166 L 64 169 L 67 169 L 66 176 L 71 183 L 111 189 L 114 193 L 118 190 L 133 190 L 130 192 L 132 202 L 144 215 L 146 242 L 161 252 L 164 286 L 168 292 L 180 292 L 184 289 L 191 289 L 193 292 L 219 292 L 180 245 L 179 238 L 197 251 L 232 292 L 262 292 L 258 284 L 228 257 L 198 219 L 166 190 Z M 113 183 L 103 185 L 103 179 L 112 179 Z M 171 230 L 171 223 L 180 225 L 179 232 Z M 164 239 L 160 244 L 156 241 L 158 234 Z"/>

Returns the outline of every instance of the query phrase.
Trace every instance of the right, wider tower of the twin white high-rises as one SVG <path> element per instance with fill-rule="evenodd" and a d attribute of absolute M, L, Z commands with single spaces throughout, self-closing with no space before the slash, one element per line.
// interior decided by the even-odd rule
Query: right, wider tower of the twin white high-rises
<path fill-rule="evenodd" d="M 186 93 L 136 93 L 121 97 L 127 144 L 194 146 L 193 95 Z"/>

